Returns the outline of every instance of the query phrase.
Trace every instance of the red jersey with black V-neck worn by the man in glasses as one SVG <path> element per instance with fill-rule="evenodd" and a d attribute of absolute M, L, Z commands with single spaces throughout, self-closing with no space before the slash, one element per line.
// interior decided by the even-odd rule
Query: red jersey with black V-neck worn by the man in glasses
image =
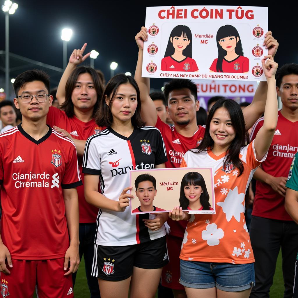
<path fill-rule="evenodd" d="M 49 127 L 36 141 L 21 124 L 0 135 L 1 238 L 13 259 L 64 257 L 63 188 L 82 184 L 74 143 Z"/>

